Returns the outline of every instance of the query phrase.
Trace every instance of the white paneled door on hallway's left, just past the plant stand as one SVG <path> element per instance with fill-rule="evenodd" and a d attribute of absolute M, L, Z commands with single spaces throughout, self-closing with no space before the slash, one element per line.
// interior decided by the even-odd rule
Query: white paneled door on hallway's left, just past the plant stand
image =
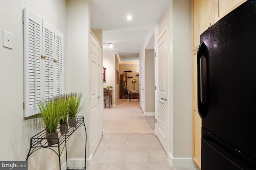
<path fill-rule="evenodd" d="M 90 115 L 89 148 L 94 153 L 102 137 L 102 47 L 94 35 L 90 34 Z"/>

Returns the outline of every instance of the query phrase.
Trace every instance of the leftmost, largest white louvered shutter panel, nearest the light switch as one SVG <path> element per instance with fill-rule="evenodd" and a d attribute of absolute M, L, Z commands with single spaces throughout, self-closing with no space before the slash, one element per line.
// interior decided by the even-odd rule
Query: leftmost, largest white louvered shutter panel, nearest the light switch
<path fill-rule="evenodd" d="M 24 8 L 24 117 L 37 114 L 42 87 L 42 19 Z"/>

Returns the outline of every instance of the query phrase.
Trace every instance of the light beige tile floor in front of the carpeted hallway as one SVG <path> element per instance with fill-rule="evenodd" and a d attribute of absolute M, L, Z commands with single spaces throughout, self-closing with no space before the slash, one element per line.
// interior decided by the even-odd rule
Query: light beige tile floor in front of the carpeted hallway
<path fill-rule="evenodd" d="M 87 170 L 198 170 L 172 168 L 154 134 L 105 134 Z"/>

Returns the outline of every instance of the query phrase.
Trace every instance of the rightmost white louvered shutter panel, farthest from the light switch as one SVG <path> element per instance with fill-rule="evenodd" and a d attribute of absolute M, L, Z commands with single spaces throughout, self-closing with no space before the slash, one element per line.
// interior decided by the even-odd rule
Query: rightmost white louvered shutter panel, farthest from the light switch
<path fill-rule="evenodd" d="M 55 95 L 63 94 L 63 33 L 55 29 Z"/>

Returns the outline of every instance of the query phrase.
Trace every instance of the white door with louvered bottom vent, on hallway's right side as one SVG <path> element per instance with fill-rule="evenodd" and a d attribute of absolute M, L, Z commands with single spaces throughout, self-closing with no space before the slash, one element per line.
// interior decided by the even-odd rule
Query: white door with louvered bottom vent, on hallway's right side
<path fill-rule="evenodd" d="M 167 29 L 166 29 L 167 30 Z M 168 64 L 168 42 L 167 31 L 161 34 L 156 43 L 155 61 L 155 81 L 156 81 L 156 100 L 155 100 L 155 135 L 160 140 L 167 152 L 168 145 L 168 83 L 167 83 L 167 64 Z"/>

